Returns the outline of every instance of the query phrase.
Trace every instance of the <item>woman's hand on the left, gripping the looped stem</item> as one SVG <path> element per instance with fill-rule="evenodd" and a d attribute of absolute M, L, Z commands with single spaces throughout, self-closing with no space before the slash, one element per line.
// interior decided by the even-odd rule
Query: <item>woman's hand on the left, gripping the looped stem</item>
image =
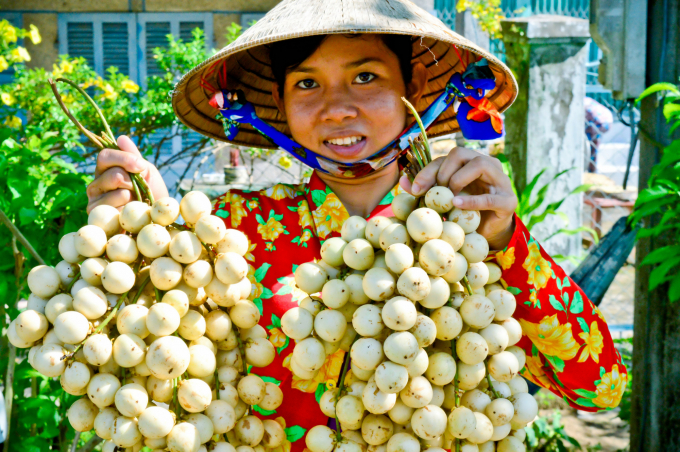
<path fill-rule="evenodd" d="M 97 156 L 95 179 L 87 187 L 87 212 L 100 204 L 121 209 L 135 197 L 128 173 L 139 173 L 149 185 L 155 199 L 168 196 L 160 173 L 144 160 L 137 146 L 125 135 L 118 137 L 120 151 L 103 149 Z"/>

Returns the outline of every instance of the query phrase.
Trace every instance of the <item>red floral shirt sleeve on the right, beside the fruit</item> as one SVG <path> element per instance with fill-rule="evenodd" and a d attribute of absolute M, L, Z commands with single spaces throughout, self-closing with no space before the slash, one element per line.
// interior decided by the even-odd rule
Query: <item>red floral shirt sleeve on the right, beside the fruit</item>
<path fill-rule="evenodd" d="M 618 406 L 628 373 L 600 310 L 552 260 L 515 216 L 510 243 L 493 256 L 501 284 L 517 301 L 526 353 L 521 374 L 570 406 L 599 411 Z"/>

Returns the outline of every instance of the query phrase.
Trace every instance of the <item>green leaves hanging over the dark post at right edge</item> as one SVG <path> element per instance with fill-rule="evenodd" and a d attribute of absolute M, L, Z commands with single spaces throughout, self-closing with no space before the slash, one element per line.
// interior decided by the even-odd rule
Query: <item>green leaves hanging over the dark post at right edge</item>
<path fill-rule="evenodd" d="M 657 83 L 637 101 L 652 94 L 663 94 L 663 115 L 672 134 L 680 127 L 680 89 L 671 83 Z M 654 266 L 649 275 L 649 290 L 670 282 L 668 298 L 671 302 L 680 300 L 680 139 L 663 149 L 661 161 L 652 168 L 648 187 L 640 192 L 629 222 L 633 225 L 642 222 L 638 238 L 669 239 L 669 245 L 649 253 L 642 265 Z M 652 222 L 654 226 L 650 227 Z"/>

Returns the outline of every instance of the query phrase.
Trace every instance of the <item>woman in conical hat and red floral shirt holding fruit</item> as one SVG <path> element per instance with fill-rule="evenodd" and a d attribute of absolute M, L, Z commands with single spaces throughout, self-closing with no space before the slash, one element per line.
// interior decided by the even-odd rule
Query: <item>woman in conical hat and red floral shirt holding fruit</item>
<path fill-rule="evenodd" d="M 307 184 L 279 184 L 256 193 L 234 190 L 215 204 L 215 214 L 251 241 L 246 255 L 251 299 L 261 307 L 260 324 L 277 347 L 275 361 L 255 373 L 280 384 L 284 404 L 276 413 L 261 414 L 283 417 L 291 427 L 292 449 L 302 450 L 304 432 L 327 421 L 315 393 L 335 384 L 343 359 L 342 351 L 331 355 L 314 380 L 292 376 L 293 344 L 282 334 L 280 318 L 306 296 L 294 284 L 294 269 L 319 259 L 321 242 L 339 236 L 349 216 L 392 216 L 390 201 L 396 193 L 422 195 L 435 184 L 456 194 L 463 189 L 472 193 L 456 197 L 455 205 L 482 211 L 478 232 L 495 250 L 490 258 L 502 268 L 503 282 L 517 298 L 515 318 L 525 334 L 518 345 L 527 354 L 523 375 L 579 409 L 617 406 L 627 375 L 604 318 L 514 215 L 517 199 L 498 160 L 454 148 L 411 184 L 400 177 L 397 160 L 374 157 L 383 155 L 381 150 L 412 121 L 402 97 L 424 110 L 453 73 L 471 67 L 479 57 L 490 62 L 495 85 L 474 91 L 486 93 L 487 104 L 484 99 L 469 102 L 485 109 L 482 120 L 500 121 L 491 107 L 507 108 L 516 95 L 509 70 L 406 0 L 351 10 L 349 4 L 354 2 L 283 1 L 231 46 L 187 74 L 174 93 L 175 112 L 184 123 L 226 140 L 223 126 L 228 129 L 233 122 L 212 118 L 220 118 L 224 105 L 245 101 L 235 91 L 220 90 L 242 90 L 240 95 L 245 93 L 265 122 L 292 136 L 294 155 L 321 162 Z M 365 23 L 371 25 L 357 25 Z M 293 32 L 306 37 L 292 39 Z M 479 80 L 475 77 L 471 79 Z M 459 116 L 463 108 L 461 103 Z M 461 116 L 461 121 L 473 116 Z M 227 131 L 230 141 L 271 147 L 259 129 L 240 127 L 238 133 Z M 430 132 L 457 128 L 456 114 L 449 109 Z M 121 151 L 99 154 L 97 177 L 88 189 L 89 209 L 98 204 L 120 207 L 131 200 L 126 171 L 141 172 L 156 198 L 167 196 L 158 171 L 134 144 L 127 137 L 118 144 Z M 352 170 L 328 169 L 355 168 L 354 162 L 370 168 L 361 166 L 369 168 L 362 177 Z"/>

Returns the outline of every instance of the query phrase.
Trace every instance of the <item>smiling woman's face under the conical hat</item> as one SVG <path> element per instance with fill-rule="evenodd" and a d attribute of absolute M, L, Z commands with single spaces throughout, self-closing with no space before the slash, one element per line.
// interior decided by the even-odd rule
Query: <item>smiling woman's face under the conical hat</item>
<path fill-rule="evenodd" d="M 420 97 L 425 80 L 418 69 L 408 91 Z M 406 124 L 399 59 L 378 35 L 329 36 L 286 74 L 283 99 L 277 91 L 274 87 L 274 98 L 293 139 L 333 160 L 364 159 Z"/>

